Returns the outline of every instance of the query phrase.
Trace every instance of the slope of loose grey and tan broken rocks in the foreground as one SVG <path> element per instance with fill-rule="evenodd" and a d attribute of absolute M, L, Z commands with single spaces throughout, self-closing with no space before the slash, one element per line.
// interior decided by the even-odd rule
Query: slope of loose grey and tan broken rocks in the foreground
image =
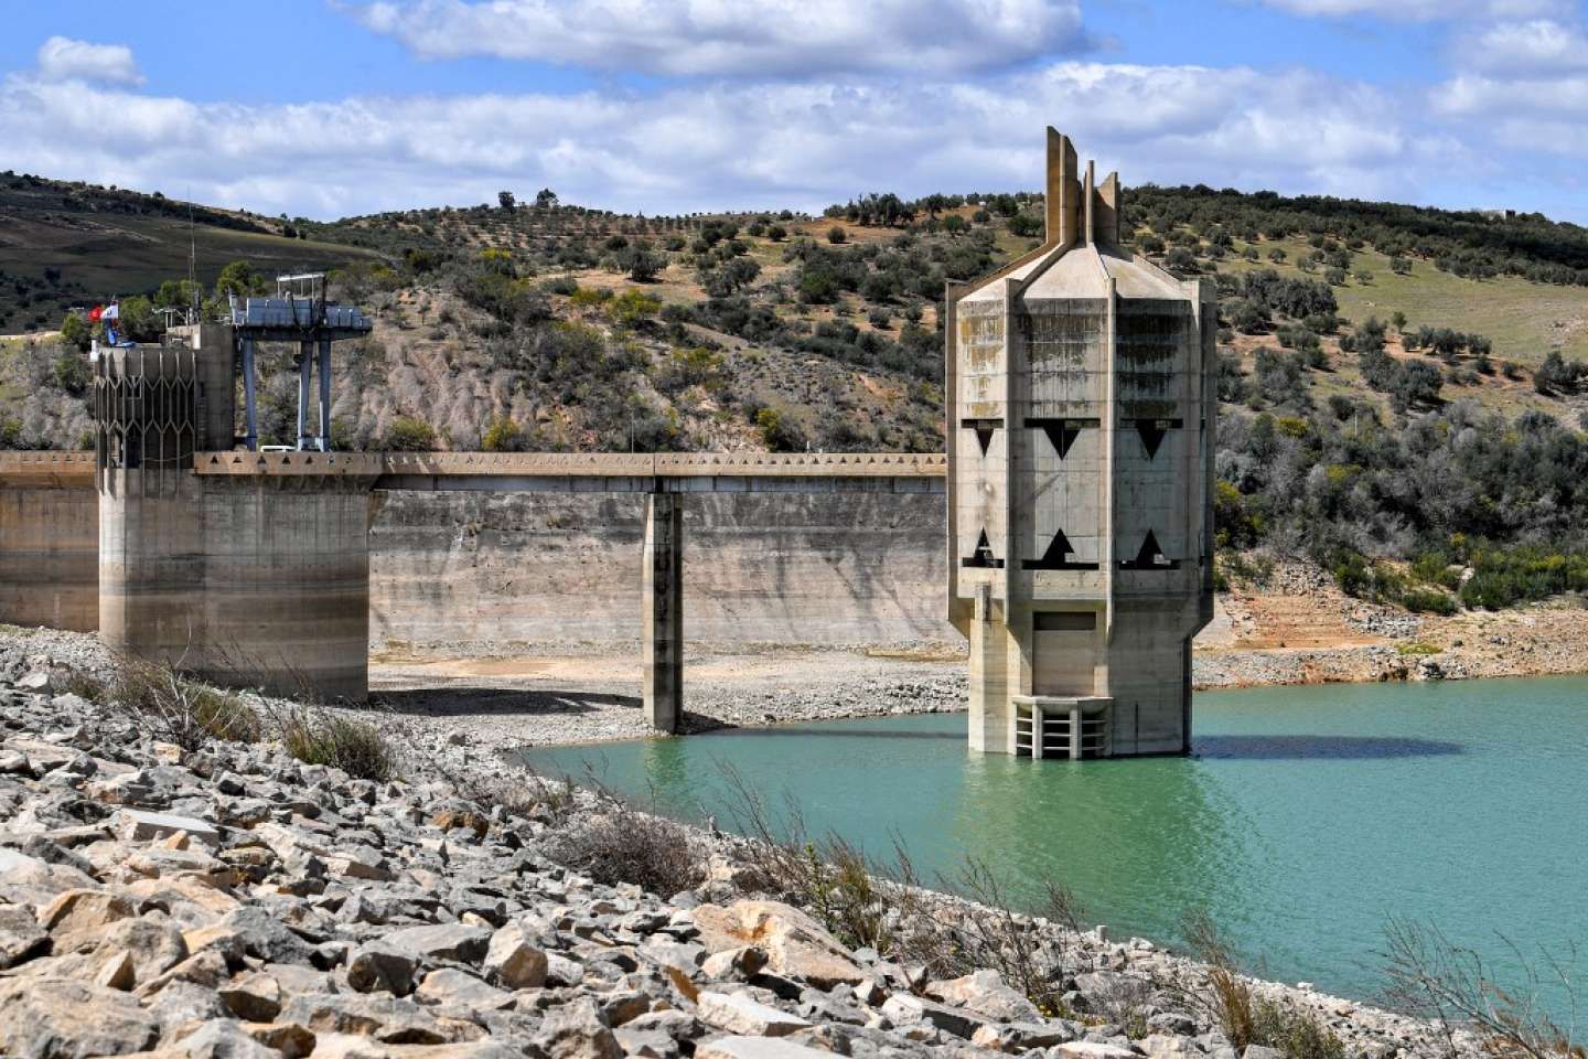
<path fill-rule="evenodd" d="M 1201 969 L 1142 940 L 1029 922 L 1075 961 L 1080 1015 L 1046 1018 L 996 972 L 929 981 L 742 892 L 727 838 L 694 835 L 713 870 L 692 891 L 600 884 L 551 856 L 602 811 L 594 794 L 508 811 L 419 762 L 376 783 L 273 745 L 184 753 L 16 660 L 0 657 L 0 1054 L 1240 1059 L 1186 1003 Z M 1351 1054 L 1445 1048 L 1410 1019 L 1258 989 Z"/>

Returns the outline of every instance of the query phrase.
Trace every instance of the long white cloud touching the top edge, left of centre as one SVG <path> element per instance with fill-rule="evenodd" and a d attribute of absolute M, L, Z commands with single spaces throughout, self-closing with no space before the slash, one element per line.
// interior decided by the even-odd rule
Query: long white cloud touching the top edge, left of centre
<path fill-rule="evenodd" d="M 1085 46 L 1080 0 L 384 0 L 360 14 L 424 57 L 669 76 L 964 73 Z"/>

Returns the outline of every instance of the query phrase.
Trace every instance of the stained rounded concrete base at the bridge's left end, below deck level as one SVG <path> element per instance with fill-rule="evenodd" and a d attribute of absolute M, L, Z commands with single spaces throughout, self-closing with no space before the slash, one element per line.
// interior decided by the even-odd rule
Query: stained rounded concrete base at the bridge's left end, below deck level
<path fill-rule="evenodd" d="M 367 483 L 105 472 L 100 638 L 227 684 L 368 692 Z"/>

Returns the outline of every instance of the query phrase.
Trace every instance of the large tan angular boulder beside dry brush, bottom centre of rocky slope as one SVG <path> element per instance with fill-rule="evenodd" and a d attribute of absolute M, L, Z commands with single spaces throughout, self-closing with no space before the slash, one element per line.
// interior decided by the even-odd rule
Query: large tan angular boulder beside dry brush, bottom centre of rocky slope
<path fill-rule="evenodd" d="M 818 989 L 856 984 L 865 972 L 850 951 L 810 915 L 775 900 L 738 900 L 694 910 L 697 942 L 713 953 L 756 945 L 780 975 L 804 978 Z"/>

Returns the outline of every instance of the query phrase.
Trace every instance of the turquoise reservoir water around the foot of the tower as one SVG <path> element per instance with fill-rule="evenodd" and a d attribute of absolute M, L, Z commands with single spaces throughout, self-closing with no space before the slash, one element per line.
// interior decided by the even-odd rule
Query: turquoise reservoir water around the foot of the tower
<path fill-rule="evenodd" d="M 815 834 L 877 854 L 897 834 L 927 876 L 972 854 L 1016 900 L 1054 878 L 1093 922 L 1159 940 L 1202 908 L 1269 976 L 1347 995 L 1382 988 L 1391 916 L 1510 972 L 1510 943 L 1588 951 L 1588 680 L 1204 692 L 1188 759 L 991 757 L 964 727 L 832 721 L 526 759 L 724 827 L 729 764 Z"/>

